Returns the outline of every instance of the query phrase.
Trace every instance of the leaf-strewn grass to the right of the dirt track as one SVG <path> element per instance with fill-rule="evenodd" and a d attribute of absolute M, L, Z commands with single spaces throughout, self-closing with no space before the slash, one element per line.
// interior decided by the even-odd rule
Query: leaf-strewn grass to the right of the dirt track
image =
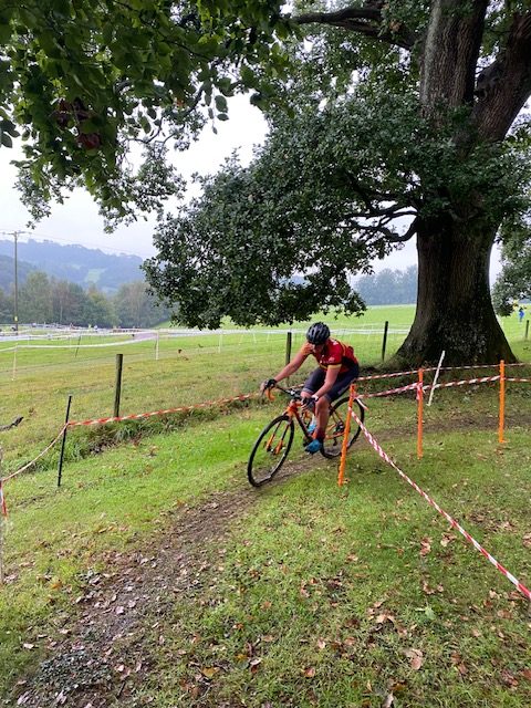
<path fill-rule="evenodd" d="M 528 430 L 389 444 L 418 483 L 531 576 Z M 528 706 L 527 603 L 366 447 L 259 493 L 179 602 L 145 697 L 190 706 Z M 529 580 L 528 580 L 529 583 Z M 156 681 L 156 683 L 155 683 Z M 231 697 L 237 702 L 230 702 Z M 227 702 L 225 702 L 227 701 Z M 388 704 L 389 705 L 389 704 Z"/>

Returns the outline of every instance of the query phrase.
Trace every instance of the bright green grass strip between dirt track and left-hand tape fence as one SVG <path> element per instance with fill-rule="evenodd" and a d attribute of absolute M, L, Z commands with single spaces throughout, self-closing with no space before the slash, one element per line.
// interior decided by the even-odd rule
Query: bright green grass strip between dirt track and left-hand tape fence
<path fill-rule="evenodd" d="M 249 415 L 241 410 L 236 419 L 189 421 L 177 434 L 71 464 L 60 489 L 55 470 L 6 486 L 10 514 L 4 522 L 8 583 L 0 591 L 3 690 L 35 660 L 42 642 L 33 652 L 24 652 L 23 644 L 35 642 L 51 618 L 69 611 L 87 571 L 104 564 L 105 551 L 140 542 L 160 528 L 160 513 L 222 490 L 237 470 L 241 477 L 253 436 Z"/>

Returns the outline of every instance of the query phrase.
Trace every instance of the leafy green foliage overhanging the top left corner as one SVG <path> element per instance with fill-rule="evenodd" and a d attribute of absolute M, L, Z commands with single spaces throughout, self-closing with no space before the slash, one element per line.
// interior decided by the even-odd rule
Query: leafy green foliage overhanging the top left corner
<path fill-rule="evenodd" d="M 227 119 L 227 96 L 254 83 L 260 59 L 281 71 L 273 32 L 288 27 L 269 0 L 2 3 L 0 140 L 11 147 L 22 134 L 20 184 L 34 216 L 74 185 L 111 223 L 160 208 L 181 188 L 166 146 Z"/>

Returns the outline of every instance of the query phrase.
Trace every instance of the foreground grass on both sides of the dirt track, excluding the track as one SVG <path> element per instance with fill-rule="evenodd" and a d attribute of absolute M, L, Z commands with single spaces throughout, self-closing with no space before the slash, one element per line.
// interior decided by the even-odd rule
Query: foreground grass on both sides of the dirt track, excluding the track
<path fill-rule="evenodd" d="M 529 358 L 527 346 L 516 348 Z M 530 397 L 512 389 L 513 426 L 519 414 L 528 424 L 512 427 L 500 449 L 493 429 L 477 429 L 496 423 L 496 395 L 486 387 L 437 394 L 420 462 L 412 400 L 371 404 L 369 427 L 529 585 Z M 178 433 L 70 464 L 60 491 L 53 470 L 7 487 L 6 572 L 14 577 L 0 595 L 3 691 L 44 650 L 39 635 L 53 632 L 105 551 L 142 544 L 185 501 L 246 485 L 249 447 L 269 416 L 260 408 L 192 419 Z M 462 434 L 430 433 L 430 424 L 458 418 Z M 398 437 L 389 435 L 398 420 Z M 313 472 L 257 494 L 235 542 L 223 545 L 222 571 L 212 570 L 202 604 L 184 597 L 167 628 L 156 657 L 162 687 L 145 687 L 155 705 L 184 696 L 215 706 L 231 693 L 251 706 L 379 706 L 386 691 L 404 706 L 529 705 L 530 626 L 512 586 L 460 540 L 442 546 L 444 520 L 373 451 L 360 446 L 348 473 L 339 493 L 335 466 L 316 460 Z M 423 539 L 430 539 L 425 555 Z M 34 648 L 24 649 L 28 642 Z M 201 667 L 215 670 L 198 680 Z"/>

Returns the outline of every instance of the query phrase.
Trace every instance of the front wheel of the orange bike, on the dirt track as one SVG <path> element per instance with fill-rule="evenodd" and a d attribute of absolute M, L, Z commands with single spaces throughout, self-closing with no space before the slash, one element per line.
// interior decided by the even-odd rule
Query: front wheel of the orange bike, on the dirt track
<path fill-rule="evenodd" d="M 283 415 L 260 433 L 247 465 L 247 476 L 253 487 L 261 487 L 277 475 L 290 452 L 294 431 L 293 420 Z"/>

